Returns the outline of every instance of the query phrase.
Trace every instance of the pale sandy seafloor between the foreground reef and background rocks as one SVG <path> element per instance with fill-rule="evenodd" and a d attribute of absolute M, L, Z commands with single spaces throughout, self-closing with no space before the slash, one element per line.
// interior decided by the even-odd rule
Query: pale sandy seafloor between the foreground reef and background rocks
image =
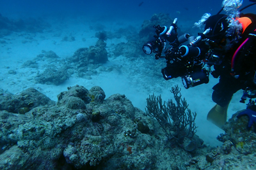
<path fill-rule="evenodd" d="M 120 39 L 107 39 L 106 49 L 109 52 L 109 61 L 104 66 L 122 65 L 123 67 L 129 67 L 130 69 L 125 70 L 131 71 L 130 74 L 125 72 L 117 73 L 116 71 L 99 71 L 99 74 L 93 75 L 91 80 L 79 78 L 75 74 L 72 74 L 67 81 L 56 86 L 36 83 L 34 80 L 36 73 L 38 71 L 42 73 L 44 69 L 36 70 L 21 67 L 24 62 L 35 58 L 42 50 L 52 50 L 59 57 L 65 59 L 66 57 L 72 56 L 78 48 L 95 45 L 97 41 L 95 32 L 97 31 L 90 29 L 90 25 L 93 24 L 95 23 L 79 18 L 76 18 L 76 20 L 68 19 L 62 22 L 52 21 L 51 29 L 47 29 L 44 32 L 13 32 L 4 38 L 0 38 L 0 40 L 6 41 L 6 43 L 0 44 L 0 88 L 16 94 L 29 87 L 34 87 L 52 100 L 57 101 L 57 95 L 67 90 L 67 87 L 82 85 L 86 89 L 90 89 L 97 85 L 104 90 L 106 97 L 116 93 L 125 94 L 134 106 L 145 111 L 146 98 L 149 94 L 153 94 L 154 92 L 156 95 L 161 94 L 164 100 L 173 99 L 170 89 L 173 85 L 179 85 L 182 88 L 182 96 L 186 98 L 189 104 L 189 109 L 197 113 L 196 125 L 198 129 L 196 134 L 204 139 L 206 144 L 212 146 L 221 145 L 216 137 L 223 131 L 206 120 L 208 111 L 214 106 L 211 99 L 212 87 L 218 82 L 218 79 L 210 76 L 210 82 L 207 85 L 199 85 L 187 90 L 184 89 L 180 78 L 170 81 L 165 81 L 161 78 L 162 67 L 159 67 L 159 72 L 156 73 L 159 74 L 159 79 L 157 81 L 155 81 L 156 79 L 150 81 L 154 75 L 145 72 L 144 68 L 147 67 L 144 64 L 145 58 L 140 59 L 140 55 L 138 55 L 136 66 L 134 66 L 134 63 L 129 63 L 130 61 L 125 59 L 124 56 L 113 57 L 111 55 L 113 45 L 120 42 L 127 42 L 127 39 L 124 37 Z M 105 26 L 105 31 L 111 31 L 115 27 L 126 27 L 130 24 L 135 26 L 139 31 L 142 23 L 125 22 L 120 24 L 120 22 L 100 22 L 100 24 Z M 74 36 L 76 41 L 61 41 L 64 36 L 70 35 Z M 138 48 L 141 48 L 141 46 L 138 46 Z M 164 59 L 155 60 L 154 55 L 148 56 L 147 59 L 152 60 L 152 62 L 165 63 Z M 17 74 L 8 74 L 8 71 L 11 69 L 15 70 Z M 133 76 L 129 76 L 131 74 Z M 140 82 L 143 81 L 141 76 L 148 80 L 147 86 L 145 83 Z M 236 113 L 236 111 L 246 108 L 246 104 L 239 103 L 242 94 L 243 92 L 239 91 L 232 98 L 228 108 L 228 118 Z"/>

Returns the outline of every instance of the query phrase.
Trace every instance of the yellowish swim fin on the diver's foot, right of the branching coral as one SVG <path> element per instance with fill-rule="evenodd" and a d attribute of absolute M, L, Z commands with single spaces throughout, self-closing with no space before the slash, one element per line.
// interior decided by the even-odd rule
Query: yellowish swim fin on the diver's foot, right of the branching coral
<path fill-rule="evenodd" d="M 212 122 L 212 124 L 221 128 L 227 121 L 228 104 L 227 104 L 227 106 L 224 106 L 224 107 L 216 104 L 209 111 L 209 113 L 207 115 L 207 120 L 209 120 L 210 122 Z"/>

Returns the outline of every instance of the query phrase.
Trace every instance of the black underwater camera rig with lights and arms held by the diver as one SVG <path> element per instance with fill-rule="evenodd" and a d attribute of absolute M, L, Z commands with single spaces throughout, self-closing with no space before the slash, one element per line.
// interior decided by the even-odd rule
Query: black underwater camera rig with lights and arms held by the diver
<path fill-rule="evenodd" d="M 211 29 L 206 29 L 197 37 L 190 36 L 188 33 L 178 37 L 176 23 L 177 18 L 173 21 L 170 29 L 166 26 L 154 25 L 157 36 L 143 45 L 143 52 L 147 55 L 154 52 L 157 53 L 156 59 L 166 59 L 166 67 L 161 70 L 164 80 L 180 77 L 186 89 L 209 83 L 209 71 L 203 68 L 204 62 L 200 57 L 201 50 L 196 45 L 204 39 L 205 34 L 208 34 Z M 164 52 L 165 56 L 161 56 L 167 41 L 170 47 Z M 186 42 L 188 45 L 182 45 Z"/>

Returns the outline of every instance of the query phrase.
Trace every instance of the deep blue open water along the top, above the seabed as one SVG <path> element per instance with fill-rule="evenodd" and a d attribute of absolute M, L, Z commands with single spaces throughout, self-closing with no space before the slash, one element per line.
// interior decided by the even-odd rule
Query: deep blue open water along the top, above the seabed
<path fill-rule="evenodd" d="M 141 6 L 139 6 L 139 4 Z M 138 20 L 150 18 L 154 13 L 170 13 L 173 15 L 181 15 L 178 17 L 198 18 L 203 13 L 217 13 L 221 8 L 221 0 L 212 1 L 143 1 L 143 0 L 96 0 L 96 1 L 81 1 L 81 0 L 1 0 L 0 13 L 4 16 L 22 17 L 31 16 L 39 17 L 44 15 L 86 15 L 92 18 L 102 18 L 104 20 L 123 19 L 123 20 Z M 248 4 L 244 1 L 244 4 Z M 255 9 L 255 7 L 253 7 Z M 251 8 L 252 9 L 252 8 Z M 179 11 L 179 12 L 177 12 Z M 176 17 L 176 16 L 173 16 Z"/>

